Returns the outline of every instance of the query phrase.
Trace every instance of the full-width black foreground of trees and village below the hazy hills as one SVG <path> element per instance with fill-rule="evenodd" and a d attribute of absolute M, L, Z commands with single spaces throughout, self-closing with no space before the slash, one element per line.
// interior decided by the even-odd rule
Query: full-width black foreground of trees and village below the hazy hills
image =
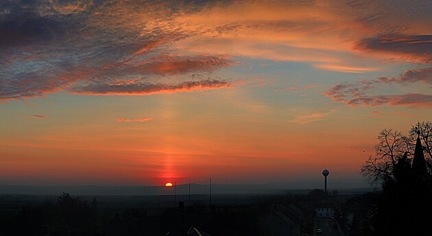
<path fill-rule="evenodd" d="M 333 228 L 331 235 L 430 235 L 427 189 L 410 181 L 363 194 L 314 189 L 303 195 L 213 196 L 212 207 L 208 196 L 177 196 L 174 204 L 173 196 L 5 195 L 0 235 L 300 236 L 317 235 L 318 227 Z M 317 226 L 326 221 L 317 211 L 323 208 L 333 209 L 331 225 Z"/>

